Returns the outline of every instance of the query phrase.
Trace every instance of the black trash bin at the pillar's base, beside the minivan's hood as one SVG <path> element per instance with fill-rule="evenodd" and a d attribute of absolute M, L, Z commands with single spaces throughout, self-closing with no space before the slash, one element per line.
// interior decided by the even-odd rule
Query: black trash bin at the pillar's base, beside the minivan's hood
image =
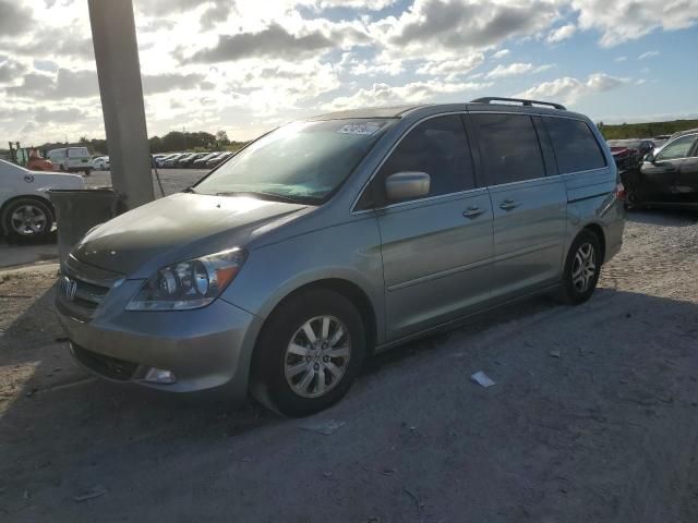
<path fill-rule="evenodd" d="M 51 190 L 48 194 L 56 209 L 61 265 L 89 229 L 122 210 L 121 198 L 111 188 Z"/>

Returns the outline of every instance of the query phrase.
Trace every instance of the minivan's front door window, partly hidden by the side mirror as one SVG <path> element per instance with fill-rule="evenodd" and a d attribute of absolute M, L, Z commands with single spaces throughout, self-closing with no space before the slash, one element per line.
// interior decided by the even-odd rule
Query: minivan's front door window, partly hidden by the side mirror
<path fill-rule="evenodd" d="M 381 168 L 376 183 L 396 172 L 418 171 L 431 177 L 429 196 L 476 186 L 468 138 L 458 114 L 436 117 L 417 125 Z"/>

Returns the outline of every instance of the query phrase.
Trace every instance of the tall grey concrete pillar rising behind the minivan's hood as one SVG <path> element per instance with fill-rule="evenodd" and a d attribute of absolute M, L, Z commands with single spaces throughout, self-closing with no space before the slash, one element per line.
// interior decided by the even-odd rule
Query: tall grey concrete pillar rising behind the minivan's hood
<path fill-rule="evenodd" d="M 131 0 L 88 0 L 111 183 L 133 209 L 155 199 Z"/>

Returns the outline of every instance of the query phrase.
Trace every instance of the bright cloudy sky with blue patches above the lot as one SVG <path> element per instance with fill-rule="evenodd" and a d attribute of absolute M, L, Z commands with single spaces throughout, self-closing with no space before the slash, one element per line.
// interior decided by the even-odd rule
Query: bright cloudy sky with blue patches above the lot
<path fill-rule="evenodd" d="M 485 95 L 698 117 L 698 0 L 134 0 L 148 134 Z M 104 136 L 86 0 L 0 0 L 0 139 Z"/>

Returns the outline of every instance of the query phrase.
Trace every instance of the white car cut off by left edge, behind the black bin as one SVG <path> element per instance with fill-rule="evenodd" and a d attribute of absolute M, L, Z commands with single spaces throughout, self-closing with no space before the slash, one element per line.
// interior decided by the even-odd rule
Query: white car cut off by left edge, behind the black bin
<path fill-rule="evenodd" d="M 85 188 L 77 174 L 29 171 L 0 160 L 0 230 L 4 234 L 38 238 L 56 221 L 50 188 Z"/>

